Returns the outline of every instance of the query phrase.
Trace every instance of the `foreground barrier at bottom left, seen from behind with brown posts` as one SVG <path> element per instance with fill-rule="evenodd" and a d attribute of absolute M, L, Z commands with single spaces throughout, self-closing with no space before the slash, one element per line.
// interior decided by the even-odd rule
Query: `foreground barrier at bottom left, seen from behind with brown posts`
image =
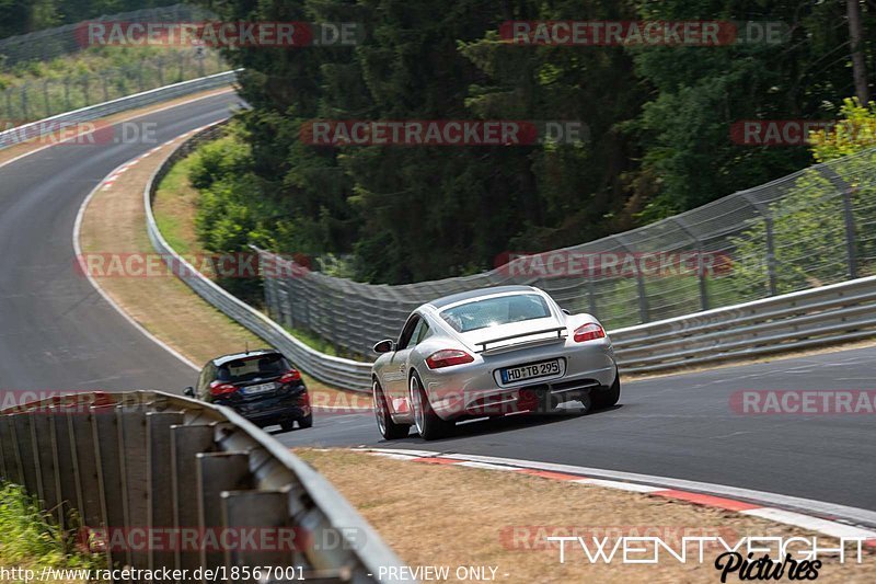
<path fill-rule="evenodd" d="M 203 401 L 90 392 L 3 410 L 0 472 L 65 528 L 90 534 L 113 566 L 188 570 L 183 581 L 200 568 L 224 569 L 217 582 L 254 582 L 233 574 L 260 566 L 270 574 L 260 582 L 366 583 L 401 565 L 319 473 L 232 410 Z M 164 537 L 174 533 L 201 539 Z M 210 534 L 218 545 L 207 543 Z"/>

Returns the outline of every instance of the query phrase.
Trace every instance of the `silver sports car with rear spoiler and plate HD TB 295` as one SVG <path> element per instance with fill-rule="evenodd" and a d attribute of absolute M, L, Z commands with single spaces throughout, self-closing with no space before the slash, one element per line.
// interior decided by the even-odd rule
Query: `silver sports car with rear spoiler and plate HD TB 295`
<path fill-rule="evenodd" d="M 374 413 L 387 439 L 427 440 L 461 420 L 577 412 L 618 403 L 611 341 L 531 286 L 456 294 L 414 310 L 397 341 L 374 345 Z"/>

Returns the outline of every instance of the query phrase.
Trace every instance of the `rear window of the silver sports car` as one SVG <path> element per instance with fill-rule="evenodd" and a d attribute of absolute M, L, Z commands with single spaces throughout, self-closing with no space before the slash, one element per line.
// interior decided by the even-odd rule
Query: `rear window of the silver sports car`
<path fill-rule="evenodd" d="M 551 309 L 538 294 L 516 294 L 474 300 L 442 310 L 439 314 L 454 331 L 466 333 L 487 327 L 548 318 Z"/>

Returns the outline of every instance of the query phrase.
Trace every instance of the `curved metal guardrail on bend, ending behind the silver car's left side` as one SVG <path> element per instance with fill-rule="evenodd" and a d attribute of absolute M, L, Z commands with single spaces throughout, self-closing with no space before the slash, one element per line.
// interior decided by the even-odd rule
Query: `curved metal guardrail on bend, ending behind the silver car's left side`
<path fill-rule="evenodd" d="M 370 391 L 370 364 L 325 355 L 309 347 L 289 334 L 281 325 L 206 278 L 191 263 L 180 256 L 159 231 L 155 217 L 152 214 L 152 199 L 161 180 L 177 160 L 187 156 L 200 142 L 214 139 L 220 131 L 221 125 L 214 125 L 192 135 L 162 162 L 146 184 L 143 207 L 146 208 L 147 231 L 152 247 L 162 257 L 172 257 L 173 262 L 181 266 L 177 273 L 186 274 L 186 277 L 183 277 L 182 280 L 198 296 L 270 343 L 270 345 L 289 357 L 302 371 L 335 387 L 354 391 Z"/>

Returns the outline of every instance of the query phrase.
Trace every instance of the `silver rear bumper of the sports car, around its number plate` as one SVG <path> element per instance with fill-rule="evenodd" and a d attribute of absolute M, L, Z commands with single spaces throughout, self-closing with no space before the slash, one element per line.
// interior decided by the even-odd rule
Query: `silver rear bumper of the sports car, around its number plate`
<path fill-rule="evenodd" d="M 498 416 L 520 411 L 549 411 L 557 403 L 579 398 L 589 391 L 611 387 L 618 375 L 614 354 L 608 340 L 563 351 L 527 352 L 526 357 L 504 355 L 471 366 L 450 367 L 446 373 L 428 371 L 423 378 L 435 412 L 443 420 L 469 416 Z M 564 359 L 562 376 L 500 385 L 498 369 L 549 358 Z M 456 370 L 453 370 L 456 369 Z M 537 405 L 533 408 L 533 401 Z"/>

